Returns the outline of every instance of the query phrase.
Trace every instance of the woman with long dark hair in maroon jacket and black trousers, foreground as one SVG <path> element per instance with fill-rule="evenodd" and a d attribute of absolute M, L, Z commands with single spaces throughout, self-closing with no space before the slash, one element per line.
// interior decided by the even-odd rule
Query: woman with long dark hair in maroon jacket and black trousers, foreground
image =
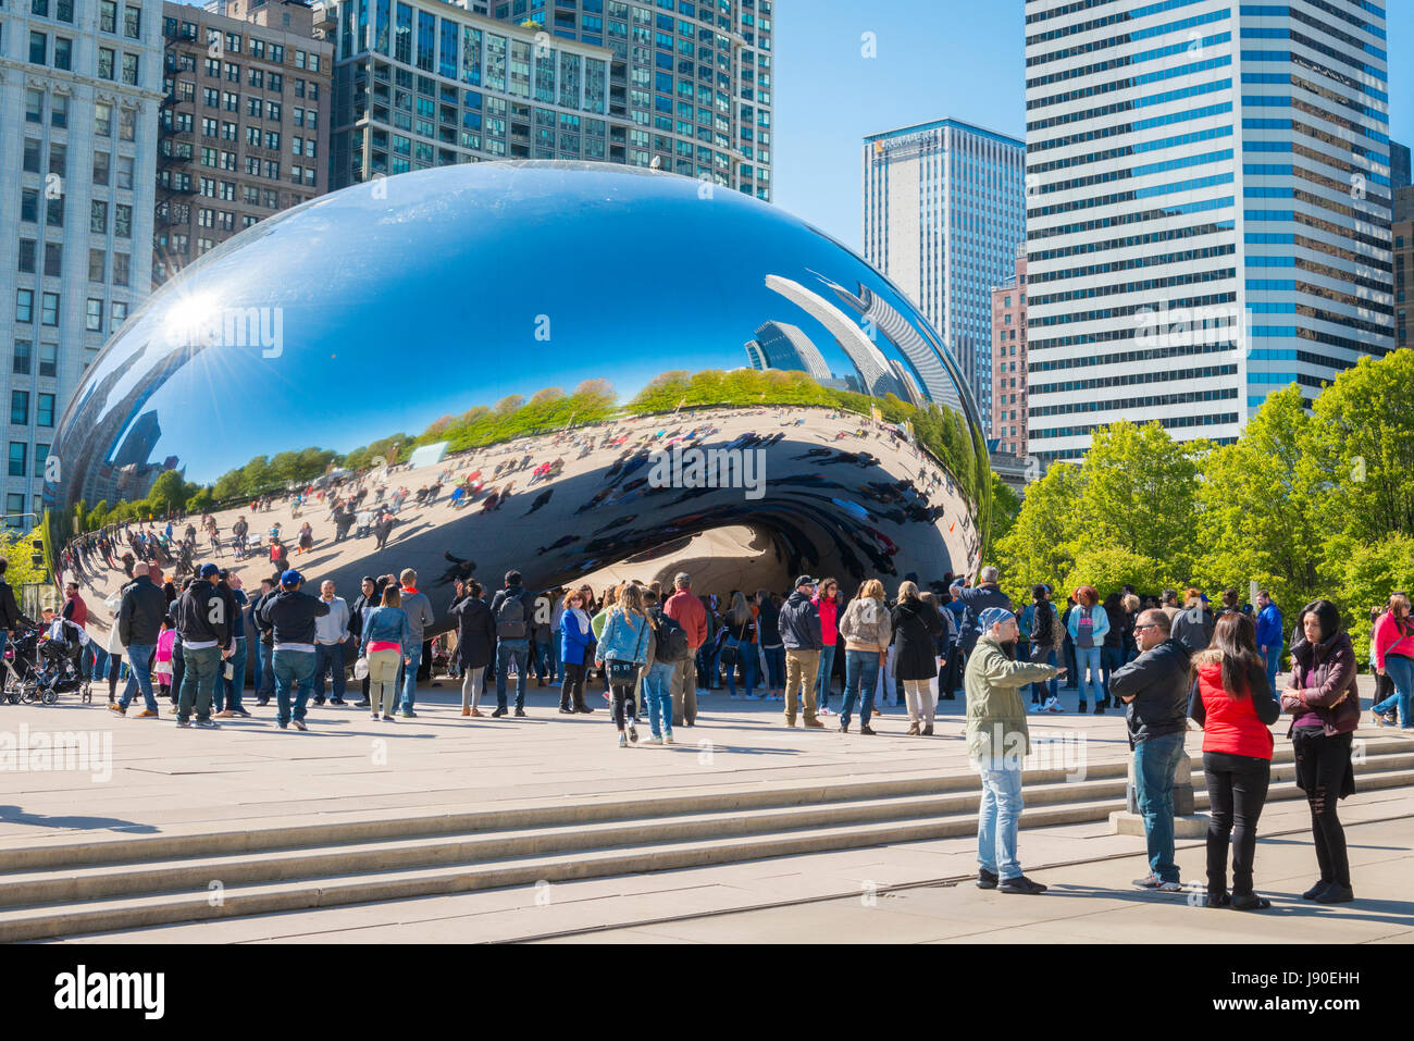
<path fill-rule="evenodd" d="M 1407 600 L 1403 610 L 1408 611 Z M 1355 648 L 1329 600 L 1314 600 L 1301 608 L 1297 631 L 1299 635 L 1291 644 L 1291 686 L 1281 692 L 1281 709 L 1291 716 L 1287 735 L 1297 755 L 1297 785 L 1311 806 L 1311 834 L 1321 867 L 1321 878 L 1301 897 L 1318 904 L 1348 904 L 1355 900 L 1355 890 L 1336 805 L 1355 792 L 1350 744 L 1360 723 Z M 1384 661 L 1393 658 L 1389 653 Z"/>

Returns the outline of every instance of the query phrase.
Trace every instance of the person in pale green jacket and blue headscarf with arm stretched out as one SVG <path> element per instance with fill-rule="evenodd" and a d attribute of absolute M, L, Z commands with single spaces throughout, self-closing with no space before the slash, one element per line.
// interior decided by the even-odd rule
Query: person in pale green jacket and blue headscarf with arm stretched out
<path fill-rule="evenodd" d="M 1021 823 L 1021 767 L 1031 754 L 1027 706 L 1021 690 L 1065 675 L 1053 665 L 1014 661 L 1021 629 L 1001 607 L 981 612 L 981 636 L 967 655 L 967 758 L 981 775 L 977 813 L 977 888 L 1036 894 L 1046 887 L 1021 873 L 1017 829 Z M 1011 653 L 1007 651 L 1011 649 Z M 1000 871 L 998 871 L 1000 864 Z"/>

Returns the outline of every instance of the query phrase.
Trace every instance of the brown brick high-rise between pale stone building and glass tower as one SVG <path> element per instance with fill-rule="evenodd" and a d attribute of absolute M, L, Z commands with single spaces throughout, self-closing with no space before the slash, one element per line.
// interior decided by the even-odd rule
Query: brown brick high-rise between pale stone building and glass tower
<path fill-rule="evenodd" d="M 334 44 L 303 0 L 163 4 L 153 281 L 328 191 Z"/>

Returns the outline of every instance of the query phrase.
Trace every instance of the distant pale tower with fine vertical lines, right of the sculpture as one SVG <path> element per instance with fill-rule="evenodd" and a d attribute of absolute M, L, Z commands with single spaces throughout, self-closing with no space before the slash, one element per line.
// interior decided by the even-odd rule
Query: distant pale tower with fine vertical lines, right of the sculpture
<path fill-rule="evenodd" d="M 912 297 L 991 419 L 991 287 L 1025 240 L 1025 146 L 954 119 L 864 139 L 864 257 Z"/>

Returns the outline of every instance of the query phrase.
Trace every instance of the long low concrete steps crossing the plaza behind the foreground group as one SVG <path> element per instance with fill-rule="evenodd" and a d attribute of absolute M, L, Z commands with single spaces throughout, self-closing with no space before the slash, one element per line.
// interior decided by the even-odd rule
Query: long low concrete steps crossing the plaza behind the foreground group
<path fill-rule="evenodd" d="M 1365 789 L 1414 786 L 1414 769 L 1369 765 L 1362 771 Z M 1268 801 L 1297 798 L 1304 793 L 1290 779 L 1275 781 L 1268 793 Z M 1022 827 L 1103 820 L 1123 805 L 1123 779 L 1038 785 L 1027 791 L 1027 801 Z M 1196 802 L 1206 808 L 1206 793 L 1199 791 Z M 631 825 L 578 823 L 117 870 L 89 867 L 61 877 L 10 873 L 0 877 L 0 941 L 957 837 L 974 833 L 976 810 L 976 792 L 855 799 L 809 809 L 684 813 Z"/>

